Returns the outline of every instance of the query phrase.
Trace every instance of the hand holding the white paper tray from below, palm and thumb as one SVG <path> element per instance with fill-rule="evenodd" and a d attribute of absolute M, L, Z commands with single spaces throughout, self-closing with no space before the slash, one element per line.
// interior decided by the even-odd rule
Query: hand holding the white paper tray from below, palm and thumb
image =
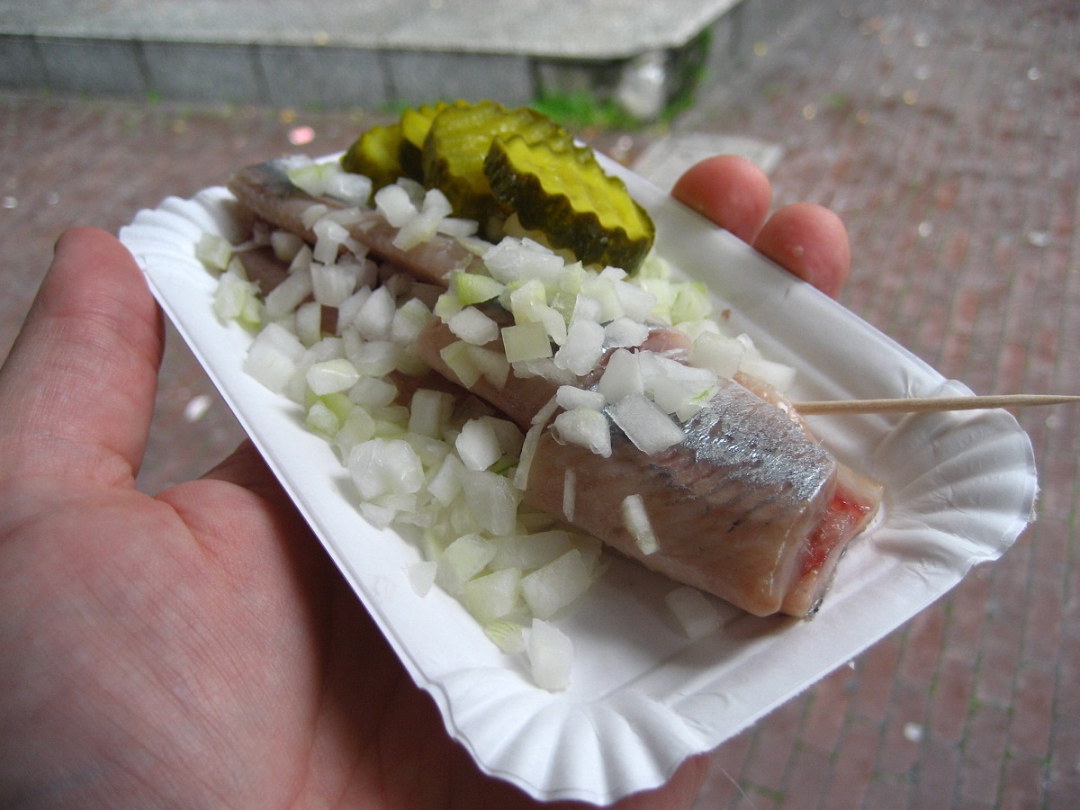
<path fill-rule="evenodd" d="M 0 804 L 532 806 L 446 734 L 251 445 L 136 490 L 162 343 L 126 251 L 64 234 L 0 369 Z M 618 807 L 689 807 L 706 770 Z"/>

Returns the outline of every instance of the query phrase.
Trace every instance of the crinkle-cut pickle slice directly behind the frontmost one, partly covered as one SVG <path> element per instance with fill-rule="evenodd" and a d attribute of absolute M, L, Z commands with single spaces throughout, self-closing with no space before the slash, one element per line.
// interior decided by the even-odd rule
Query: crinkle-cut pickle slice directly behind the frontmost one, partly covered
<path fill-rule="evenodd" d="M 484 174 L 491 141 L 516 134 L 526 143 L 570 144 L 569 133 L 535 110 L 508 110 L 496 102 L 448 106 L 431 123 L 423 143 L 424 184 L 446 194 L 458 216 L 486 228 L 504 212 Z"/>

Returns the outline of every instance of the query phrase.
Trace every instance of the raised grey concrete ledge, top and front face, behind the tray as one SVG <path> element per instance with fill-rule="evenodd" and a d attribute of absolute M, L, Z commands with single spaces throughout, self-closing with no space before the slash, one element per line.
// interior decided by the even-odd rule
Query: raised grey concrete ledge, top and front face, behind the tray
<path fill-rule="evenodd" d="M 652 120 L 729 60 L 744 5 L 0 0 L 0 89 L 310 108 L 584 92 Z"/>

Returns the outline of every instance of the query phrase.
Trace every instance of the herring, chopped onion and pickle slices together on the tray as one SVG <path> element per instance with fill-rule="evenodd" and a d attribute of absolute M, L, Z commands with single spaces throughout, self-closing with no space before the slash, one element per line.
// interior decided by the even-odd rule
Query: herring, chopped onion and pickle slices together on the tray
<path fill-rule="evenodd" d="M 546 119 L 456 103 L 391 130 L 340 164 L 240 172 L 266 235 L 218 262 L 219 312 L 261 324 L 249 368 L 332 437 L 361 511 L 418 529 L 418 577 L 507 649 L 523 605 L 546 620 L 588 588 L 593 537 L 750 612 L 811 613 L 880 487 L 809 433 L 792 369 L 721 334 Z M 342 171 L 365 161 L 389 174 Z M 278 275 L 258 289 L 257 266 Z"/>

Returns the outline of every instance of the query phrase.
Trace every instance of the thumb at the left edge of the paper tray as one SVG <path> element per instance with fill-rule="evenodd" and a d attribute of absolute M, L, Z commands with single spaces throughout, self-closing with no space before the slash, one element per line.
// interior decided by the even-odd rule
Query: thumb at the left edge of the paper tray
<path fill-rule="evenodd" d="M 62 235 L 0 369 L 0 477 L 133 481 L 163 340 L 161 313 L 123 245 L 91 228 Z"/>

